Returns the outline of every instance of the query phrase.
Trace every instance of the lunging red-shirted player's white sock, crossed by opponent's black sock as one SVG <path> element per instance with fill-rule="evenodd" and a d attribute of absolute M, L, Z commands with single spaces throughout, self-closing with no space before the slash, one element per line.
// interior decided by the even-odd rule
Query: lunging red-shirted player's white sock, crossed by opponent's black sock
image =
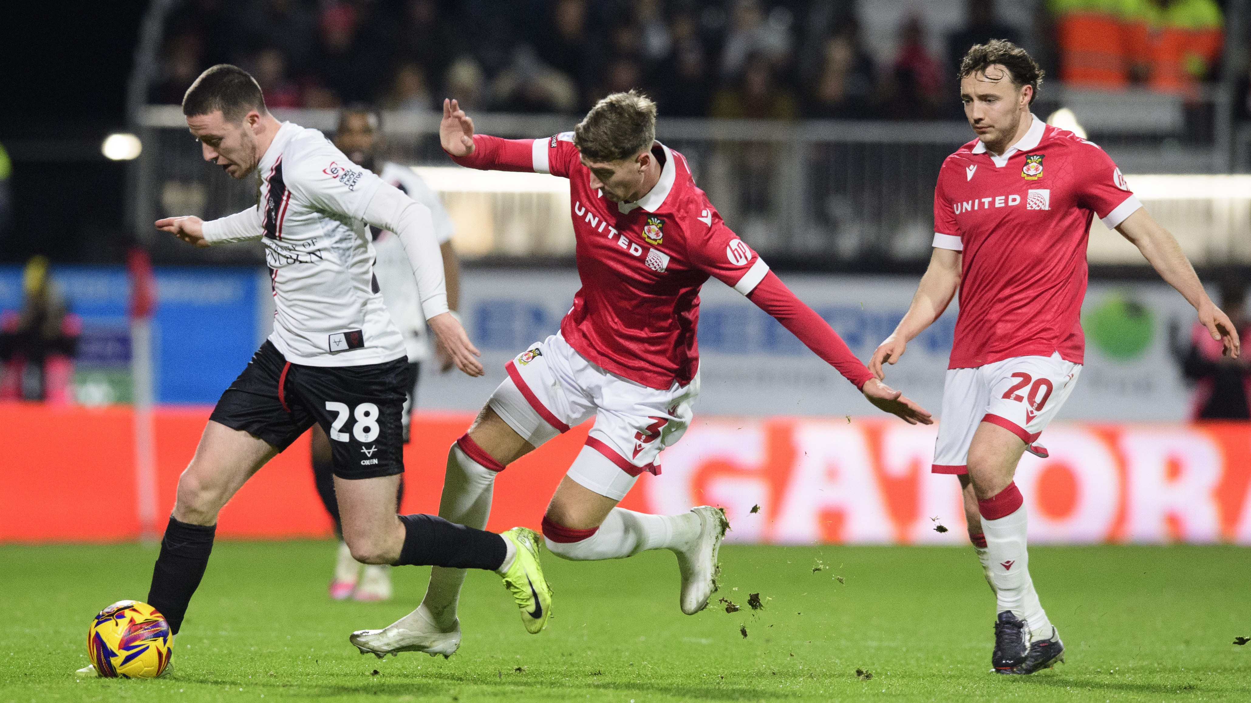
<path fill-rule="evenodd" d="M 484 529 L 490 515 L 495 474 L 497 472 L 470 459 L 458 444 L 453 444 L 448 452 L 439 517 L 448 522 Z M 515 549 L 512 543 L 508 548 L 509 553 L 504 557 L 505 569 L 512 565 Z M 425 588 L 425 598 L 418 607 L 419 610 L 425 610 L 427 620 L 444 630 L 455 624 L 457 603 L 460 600 L 460 585 L 464 580 L 464 569 L 434 567 L 430 570 L 430 584 Z"/>

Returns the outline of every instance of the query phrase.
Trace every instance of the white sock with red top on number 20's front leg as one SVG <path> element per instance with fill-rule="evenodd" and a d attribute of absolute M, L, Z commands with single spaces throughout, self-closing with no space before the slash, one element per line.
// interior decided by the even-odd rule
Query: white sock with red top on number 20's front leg
<path fill-rule="evenodd" d="M 1051 622 L 1038 602 L 1030 578 L 1030 552 L 1026 544 L 1025 499 L 1016 483 L 1010 483 L 993 498 L 977 502 L 990 562 L 990 580 L 995 588 L 996 612 L 1012 610 L 1030 628 L 1030 640 L 1051 637 Z"/>

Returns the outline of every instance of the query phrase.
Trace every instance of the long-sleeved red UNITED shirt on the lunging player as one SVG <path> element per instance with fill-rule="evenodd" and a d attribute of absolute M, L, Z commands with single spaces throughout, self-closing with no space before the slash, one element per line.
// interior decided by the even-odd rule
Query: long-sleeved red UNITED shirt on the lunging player
<path fill-rule="evenodd" d="M 560 333 L 593 364 L 649 388 L 691 383 L 699 367 L 699 288 L 714 276 L 748 295 L 857 388 L 872 377 L 829 325 L 726 226 L 682 154 L 656 143 L 659 181 L 637 203 L 613 203 L 590 188 L 573 133 L 473 139 L 474 153 L 454 158 L 458 164 L 569 179 L 582 288 L 560 320 Z"/>

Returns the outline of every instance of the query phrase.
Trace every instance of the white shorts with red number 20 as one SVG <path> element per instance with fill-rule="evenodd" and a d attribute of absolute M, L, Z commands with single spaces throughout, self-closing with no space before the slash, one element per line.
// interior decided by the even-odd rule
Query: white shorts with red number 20
<path fill-rule="evenodd" d="M 1051 357 L 1013 357 L 972 369 L 947 369 L 942 393 L 936 474 L 968 473 L 968 444 L 981 423 L 993 423 L 1021 438 L 1031 452 L 1082 373 L 1081 364 Z"/>

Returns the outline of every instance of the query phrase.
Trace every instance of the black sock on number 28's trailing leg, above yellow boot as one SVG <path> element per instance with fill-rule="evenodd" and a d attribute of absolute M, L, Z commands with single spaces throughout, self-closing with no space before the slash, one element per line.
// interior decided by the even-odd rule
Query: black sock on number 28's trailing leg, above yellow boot
<path fill-rule="evenodd" d="M 395 565 L 434 565 L 453 569 L 495 570 L 504 564 L 504 538 L 480 529 L 449 523 L 437 515 L 400 515 L 404 547 Z"/>

